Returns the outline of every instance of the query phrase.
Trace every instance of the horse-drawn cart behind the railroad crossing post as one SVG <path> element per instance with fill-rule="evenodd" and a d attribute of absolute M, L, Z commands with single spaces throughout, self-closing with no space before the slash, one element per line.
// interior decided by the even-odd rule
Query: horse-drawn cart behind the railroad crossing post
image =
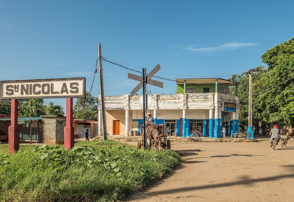
<path fill-rule="evenodd" d="M 171 140 L 167 139 L 167 127 L 164 124 L 158 124 L 155 125 L 156 128 L 154 130 L 157 130 L 159 132 L 159 140 L 154 140 L 152 138 L 147 138 L 147 145 L 154 145 L 156 148 L 161 150 L 163 149 L 171 149 Z M 152 133 L 152 130 L 150 131 Z M 137 149 L 141 148 L 141 145 L 144 146 L 144 136 L 143 136 L 143 124 L 141 125 L 141 135 L 142 135 L 142 140 L 137 142 Z M 151 140 L 151 144 L 150 141 Z M 153 143 L 152 143 L 153 142 Z"/>

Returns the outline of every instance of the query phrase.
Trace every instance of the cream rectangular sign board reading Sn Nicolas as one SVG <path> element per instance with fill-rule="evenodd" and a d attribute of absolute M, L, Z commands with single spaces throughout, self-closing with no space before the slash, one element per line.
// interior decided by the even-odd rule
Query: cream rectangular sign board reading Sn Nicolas
<path fill-rule="evenodd" d="M 85 97 L 86 78 L 0 81 L 0 99 Z"/>

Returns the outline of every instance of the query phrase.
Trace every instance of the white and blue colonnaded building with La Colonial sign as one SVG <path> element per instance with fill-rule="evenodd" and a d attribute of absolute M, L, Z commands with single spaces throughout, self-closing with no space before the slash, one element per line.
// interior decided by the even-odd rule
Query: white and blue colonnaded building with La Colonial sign
<path fill-rule="evenodd" d="M 237 82 L 200 78 L 177 79 L 176 84 L 176 95 L 151 96 L 148 111 L 152 112 L 156 124 L 170 126 L 172 135 L 182 137 L 197 130 L 206 137 L 220 138 L 222 126 L 226 127 L 227 135 L 238 129 Z M 104 96 L 108 135 L 128 135 L 129 130 L 141 132 L 143 110 L 139 106 L 140 97 L 128 94 Z M 101 123 L 101 107 L 98 110 L 98 122 Z"/>

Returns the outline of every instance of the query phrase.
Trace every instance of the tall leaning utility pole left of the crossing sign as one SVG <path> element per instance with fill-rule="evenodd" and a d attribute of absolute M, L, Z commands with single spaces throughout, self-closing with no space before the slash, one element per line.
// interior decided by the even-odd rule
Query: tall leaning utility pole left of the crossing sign
<path fill-rule="evenodd" d="M 106 115 L 104 104 L 104 88 L 103 88 L 103 74 L 102 74 L 102 56 L 101 56 L 101 44 L 98 44 L 98 60 L 99 60 L 99 81 L 100 81 L 100 95 L 101 95 L 101 119 L 102 119 L 102 135 L 103 140 L 107 140 L 106 129 Z M 95 73 L 97 72 L 97 69 Z"/>

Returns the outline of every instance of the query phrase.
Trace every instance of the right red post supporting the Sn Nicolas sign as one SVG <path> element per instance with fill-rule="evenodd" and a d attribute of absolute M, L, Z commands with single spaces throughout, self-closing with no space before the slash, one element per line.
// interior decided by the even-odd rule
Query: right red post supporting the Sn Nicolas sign
<path fill-rule="evenodd" d="M 74 147 L 73 98 L 66 98 L 66 126 L 64 127 L 64 149 Z"/>

